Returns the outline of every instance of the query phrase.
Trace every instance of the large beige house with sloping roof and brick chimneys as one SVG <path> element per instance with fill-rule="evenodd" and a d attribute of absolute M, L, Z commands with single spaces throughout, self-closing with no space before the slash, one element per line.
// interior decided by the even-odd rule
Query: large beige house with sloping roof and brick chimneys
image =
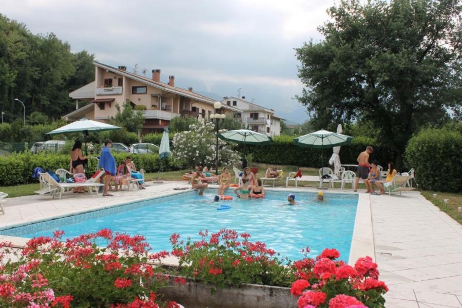
<path fill-rule="evenodd" d="M 93 62 L 95 81 L 69 93 L 76 101 L 76 110 L 64 115 L 67 121 L 75 121 L 83 117 L 91 120 L 107 122 L 117 113 L 118 104 L 121 109 L 129 101 L 133 107 L 143 108 L 145 122 L 143 133 L 161 132 L 171 119 L 182 115 L 197 117 L 200 121 L 215 113 L 215 100 L 175 86 L 175 76 L 168 77 L 169 82 L 160 82 L 160 69 L 152 70 L 152 78 L 146 78 L 127 71 L 125 66 L 118 68 Z M 85 103 L 83 107 L 82 105 Z M 225 114 L 241 113 L 233 106 L 224 105 Z"/>

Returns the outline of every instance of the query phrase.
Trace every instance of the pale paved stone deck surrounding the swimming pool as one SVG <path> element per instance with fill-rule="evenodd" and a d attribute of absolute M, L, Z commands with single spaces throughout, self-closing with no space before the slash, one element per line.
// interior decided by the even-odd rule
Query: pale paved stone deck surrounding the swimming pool
<path fill-rule="evenodd" d="M 10 198 L 4 205 L 5 215 L 0 215 L 0 228 L 174 194 L 175 187 L 189 188 L 185 182 L 148 184 L 146 190 L 112 192 L 114 197 L 67 193 L 61 200 L 46 195 Z M 352 192 L 351 189 L 324 191 Z M 17 245 L 26 242 L 0 235 L 0 241 L 4 240 Z M 376 260 L 380 279 L 390 288 L 387 308 L 462 308 L 462 225 L 419 192 L 374 196 L 359 191 L 350 254 L 371 255 Z"/>

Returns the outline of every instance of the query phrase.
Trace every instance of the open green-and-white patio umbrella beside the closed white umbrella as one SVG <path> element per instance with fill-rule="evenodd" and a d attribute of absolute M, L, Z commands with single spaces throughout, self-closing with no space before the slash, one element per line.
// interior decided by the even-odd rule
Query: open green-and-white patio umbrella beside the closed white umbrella
<path fill-rule="evenodd" d="M 342 146 L 350 144 L 353 137 L 336 133 L 327 130 L 318 130 L 304 136 L 294 139 L 294 144 L 299 147 L 321 149 L 321 168 L 322 166 L 322 150 L 325 148 L 332 148 L 334 146 Z"/>

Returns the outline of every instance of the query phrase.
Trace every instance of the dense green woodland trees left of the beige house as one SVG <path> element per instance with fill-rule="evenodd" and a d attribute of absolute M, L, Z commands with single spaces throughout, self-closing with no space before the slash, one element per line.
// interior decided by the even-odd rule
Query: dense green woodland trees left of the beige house
<path fill-rule="evenodd" d="M 72 53 L 53 33 L 32 34 L 24 24 L 0 14 L 0 109 L 5 122 L 23 112 L 58 119 L 72 111 L 69 92 L 94 80 L 93 54 Z"/>

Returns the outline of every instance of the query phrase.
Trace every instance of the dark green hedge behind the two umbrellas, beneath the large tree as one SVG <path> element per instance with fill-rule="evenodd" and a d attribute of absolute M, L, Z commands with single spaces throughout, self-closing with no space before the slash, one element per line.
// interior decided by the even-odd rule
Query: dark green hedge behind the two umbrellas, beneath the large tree
<path fill-rule="evenodd" d="M 293 137 L 291 136 L 275 136 L 273 140 L 274 144 L 271 145 L 246 146 L 245 152 L 252 153 L 253 160 L 259 163 L 320 167 L 320 149 L 300 148 L 293 144 Z M 341 147 L 341 163 L 356 164 L 359 153 L 368 145 L 374 148 L 370 161 L 377 160 L 379 165 L 386 166 L 389 162 L 394 162 L 398 157 L 398 153 L 394 148 L 376 145 L 370 138 L 358 137 L 353 139 L 350 145 Z M 324 166 L 328 166 L 331 156 L 332 149 L 323 150 Z"/>

